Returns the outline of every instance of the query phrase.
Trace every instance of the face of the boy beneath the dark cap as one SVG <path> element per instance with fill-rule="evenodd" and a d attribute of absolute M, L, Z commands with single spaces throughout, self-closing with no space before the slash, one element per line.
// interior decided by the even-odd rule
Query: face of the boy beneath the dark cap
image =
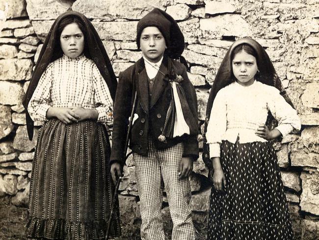
<path fill-rule="evenodd" d="M 164 54 L 165 38 L 157 27 L 143 29 L 139 39 L 144 57 L 151 62 L 158 62 Z"/>

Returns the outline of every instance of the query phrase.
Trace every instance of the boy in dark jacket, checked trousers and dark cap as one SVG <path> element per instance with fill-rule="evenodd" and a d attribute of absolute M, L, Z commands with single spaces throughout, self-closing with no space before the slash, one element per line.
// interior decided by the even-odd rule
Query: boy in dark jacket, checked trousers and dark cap
<path fill-rule="evenodd" d="M 130 134 L 140 197 L 142 240 L 165 240 L 161 218 L 164 181 L 173 220 L 172 240 L 194 240 L 188 176 L 198 158 L 197 99 L 186 67 L 175 60 L 184 36 L 175 20 L 155 8 L 137 25 L 143 58 L 121 72 L 114 103 L 111 151 L 113 180 L 122 176 L 124 148 L 135 92 Z"/>

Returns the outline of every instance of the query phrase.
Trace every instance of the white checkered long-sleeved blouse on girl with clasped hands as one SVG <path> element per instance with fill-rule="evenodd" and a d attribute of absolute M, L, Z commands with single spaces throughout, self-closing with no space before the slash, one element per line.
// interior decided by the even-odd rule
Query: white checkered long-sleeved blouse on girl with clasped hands
<path fill-rule="evenodd" d="M 50 107 L 96 109 L 98 120 L 113 121 L 113 101 L 99 69 L 84 55 L 76 59 L 63 56 L 51 62 L 42 74 L 28 104 L 35 122 L 46 121 Z"/>

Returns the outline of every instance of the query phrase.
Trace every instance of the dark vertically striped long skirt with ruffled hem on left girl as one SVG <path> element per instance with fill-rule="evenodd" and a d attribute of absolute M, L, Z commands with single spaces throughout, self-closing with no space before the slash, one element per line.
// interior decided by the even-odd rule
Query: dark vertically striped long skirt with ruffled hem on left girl
<path fill-rule="evenodd" d="M 42 126 L 32 166 L 28 238 L 104 239 L 114 192 L 109 155 L 101 123 L 52 119 Z M 117 202 L 111 236 L 119 235 Z"/>

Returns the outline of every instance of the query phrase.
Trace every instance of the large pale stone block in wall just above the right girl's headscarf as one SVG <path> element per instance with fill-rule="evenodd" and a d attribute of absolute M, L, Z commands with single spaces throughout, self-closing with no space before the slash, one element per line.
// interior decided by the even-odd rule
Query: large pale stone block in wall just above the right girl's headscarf
<path fill-rule="evenodd" d="M 221 39 L 222 36 L 251 36 L 250 25 L 237 14 L 223 14 L 212 18 L 200 19 L 200 29 L 203 37 Z"/>

